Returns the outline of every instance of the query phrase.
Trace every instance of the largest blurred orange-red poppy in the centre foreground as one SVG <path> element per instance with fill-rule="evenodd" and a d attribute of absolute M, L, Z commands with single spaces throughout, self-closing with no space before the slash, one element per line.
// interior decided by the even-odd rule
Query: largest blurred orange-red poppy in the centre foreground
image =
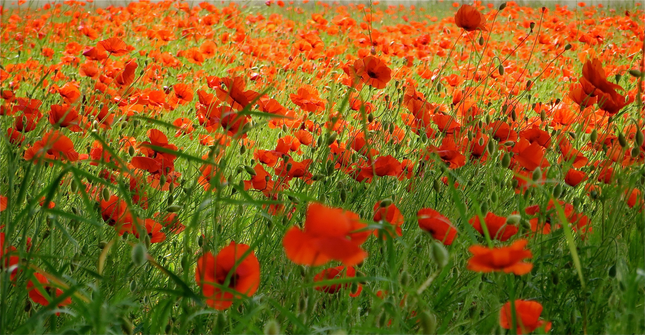
<path fill-rule="evenodd" d="M 357 265 L 367 257 L 361 249 L 370 236 L 370 231 L 362 230 L 366 227 L 355 213 L 313 203 L 307 209 L 304 231 L 292 227 L 284 235 L 284 252 L 301 265 L 323 265 L 330 260 Z"/>

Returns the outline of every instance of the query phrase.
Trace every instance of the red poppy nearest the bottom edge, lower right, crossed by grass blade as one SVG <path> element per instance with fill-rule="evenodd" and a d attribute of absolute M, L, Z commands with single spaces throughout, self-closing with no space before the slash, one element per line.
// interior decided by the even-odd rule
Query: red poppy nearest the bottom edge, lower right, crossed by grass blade
<path fill-rule="evenodd" d="M 504 303 L 499 311 L 499 325 L 504 329 L 511 329 L 512 325 L 511 302 Z M 528 334 L 533 330 L 544 326 L 544 332 L 551 329 L 551 322 L 540 320 L 542 304 L 527 300 L 515 300 L 515 321 L 517 322 L 517 334 Z"/>

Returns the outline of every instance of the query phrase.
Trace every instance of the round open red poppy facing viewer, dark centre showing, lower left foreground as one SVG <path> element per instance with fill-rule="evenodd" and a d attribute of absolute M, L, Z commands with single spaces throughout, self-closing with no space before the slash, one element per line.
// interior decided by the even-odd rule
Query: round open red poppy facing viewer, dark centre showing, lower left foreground
<path fill-rule="evenodd" d="M 195 282 L 202 287 L 206 303 L 210 307 L 227 309 L 233 304 L 233 300 L 240 299 L 243 295 L 252 296 L 257 291 L 260 285 L 260 263 L 253 251 L 244 256 L 248 249 L 246 244 L 231 242 L 217 256 L 206 252 L 197 260 Z M 228 289 L 224 290 L 221 287 L 227 278 Z M 239 293 L 233 294 L 231 291 Z"/>

